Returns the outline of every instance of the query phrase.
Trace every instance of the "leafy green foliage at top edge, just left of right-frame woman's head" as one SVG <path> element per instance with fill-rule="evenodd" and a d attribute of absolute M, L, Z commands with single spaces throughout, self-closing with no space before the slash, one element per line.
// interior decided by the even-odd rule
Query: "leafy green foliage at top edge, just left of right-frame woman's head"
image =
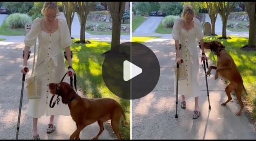
<path fill-rule="evenodd" d="M 181 2 L 159 2 L 159 4 L 166 15 L 180 15 L 183 10 Z"/>

